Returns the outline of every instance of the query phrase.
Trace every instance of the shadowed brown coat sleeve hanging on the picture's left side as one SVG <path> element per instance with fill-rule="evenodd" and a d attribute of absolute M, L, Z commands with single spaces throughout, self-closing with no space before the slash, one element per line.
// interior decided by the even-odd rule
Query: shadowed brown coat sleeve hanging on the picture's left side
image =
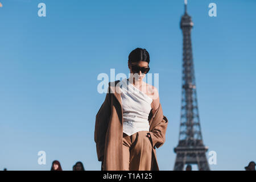
<path fill-rule="evenodd" d="M 108 89 L 109 90 L 109 89 Z M 98 161 L 104 160 L 105 153 L 105 137 L 108 130 L 109 119 L 111 114 L 110 93 L 106 93 L 105 101 L 96 114 L 96 122 L 94 129 L 94 141 L 96 142 L 96 150 Z"/>

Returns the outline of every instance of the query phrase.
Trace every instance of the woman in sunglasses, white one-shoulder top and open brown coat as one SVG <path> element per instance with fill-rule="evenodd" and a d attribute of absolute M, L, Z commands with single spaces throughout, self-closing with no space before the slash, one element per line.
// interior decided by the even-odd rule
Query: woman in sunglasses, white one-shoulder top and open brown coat
<path fill-rule="evenodd" d="M 131 76 L 109 82 L 94 131 L 102 170 L 159 170 L 155 147 L 165 142 L 168 120 L 158 90 L 142 81 L 148 63 L 146 49 L 134 49 L 128 60 Z"/>

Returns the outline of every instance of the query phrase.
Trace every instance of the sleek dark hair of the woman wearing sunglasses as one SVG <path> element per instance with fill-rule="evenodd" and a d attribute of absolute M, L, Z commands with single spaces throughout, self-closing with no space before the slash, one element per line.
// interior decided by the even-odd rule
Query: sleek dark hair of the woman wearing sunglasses
<path fill-rule="evenodd" d="M 147 63 L 149 64 L 150 56 L 146 49 L 136 48 L 131 51 L 128 62 L 131 64 L 139 61 L 147 61 Z"/>

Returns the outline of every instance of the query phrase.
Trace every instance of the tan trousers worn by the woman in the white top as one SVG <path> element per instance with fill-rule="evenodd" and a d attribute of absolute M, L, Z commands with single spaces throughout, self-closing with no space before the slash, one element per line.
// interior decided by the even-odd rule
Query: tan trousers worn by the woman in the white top
<path fill-rule="evenodd" d="M 152 144 L 148 131 L 138 131 L 129 136 L 123 133 L 123 170 L 150 171 Z"/>

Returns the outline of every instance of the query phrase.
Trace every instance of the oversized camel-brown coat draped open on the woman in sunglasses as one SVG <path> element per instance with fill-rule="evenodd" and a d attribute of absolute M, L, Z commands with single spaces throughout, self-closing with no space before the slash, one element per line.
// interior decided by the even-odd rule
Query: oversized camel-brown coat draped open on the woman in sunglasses
<path fill-rule="evenodd" d="M 122 99 L 119 92 L 120 80 L 109 82 L 108 93 L 100 110 L 96 114 L 94 141 L 96 142 L 98 161 L 102 162 L 101 170 L 122 171 L 122 137 L 123 137 L 123 110 Z M 166 140 L 168 119 L 163 115 L 161 104 L 152 115 L 150 111 L 148 122 L 150 124 L 152 144 L 151 170 L 159 171 L 156 160 L 156 148 L 163 145 Z"/>

